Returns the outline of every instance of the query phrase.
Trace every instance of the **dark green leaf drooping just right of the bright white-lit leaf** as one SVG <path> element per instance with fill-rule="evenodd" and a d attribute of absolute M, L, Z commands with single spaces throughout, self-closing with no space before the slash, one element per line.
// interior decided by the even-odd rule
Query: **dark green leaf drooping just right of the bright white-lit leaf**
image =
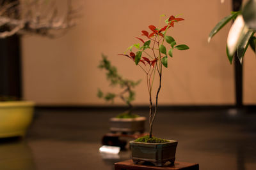
<path fill-rule="evenodd" d="M 237 46 L 237 51 L 236 51 L 237 57 L 241 64 L 243 62 L 244 53 L 246 52 L 249 45 L 249 39 L 251 36 L 253 36 L 253 34 L 254 34 L 254 31 L 252 30 L 247 31 L 246 34 L 241 39 L 241 42 Z"/>

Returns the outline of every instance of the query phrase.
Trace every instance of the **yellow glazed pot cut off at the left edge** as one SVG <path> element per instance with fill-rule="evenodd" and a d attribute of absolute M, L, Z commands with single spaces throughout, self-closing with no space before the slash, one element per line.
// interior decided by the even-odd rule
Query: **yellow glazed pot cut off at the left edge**
<path fill-rule="evenodd" d="M 0 102 L 0 138 L 24 136 L 34 111 L 31 101 Z"/>

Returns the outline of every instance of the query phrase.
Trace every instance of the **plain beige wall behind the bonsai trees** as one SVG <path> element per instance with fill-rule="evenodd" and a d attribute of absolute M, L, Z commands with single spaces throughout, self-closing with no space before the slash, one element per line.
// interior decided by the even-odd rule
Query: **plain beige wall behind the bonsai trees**
<path fill-rule="evenodd" d="M 97 69 L 104 53 L 127 78 L 143 79 L 134 104 L 148 104 L 145 75 L 125 57 L 116 54 L 132 43 L 148 25 L 158 24 L 159 15 L 182 13 L 185 21 L 169 35 L 190 50 L 173 52 L 164 69 L 160 104 L 234 104 L 233 66 L 228 64 L 225 41 L 228 26 L 207 43 L 212 27 L 229 14 L 230 0 L 188 1 L 83 1 L 76 27 L 58 39 L 22 38 L 24 97 L 38 104 L 107 104 L 97 98 L 97 89 L 108 87 L 103 71 Z M 246 103 L 255 99 L 255 57 L 245 61 Z M 249 66 L 250 65 L 250 66 Z M 254 73 L 253 73 L 254 72 Z M 116 104 L 122 104 L 116 101 Z"/>

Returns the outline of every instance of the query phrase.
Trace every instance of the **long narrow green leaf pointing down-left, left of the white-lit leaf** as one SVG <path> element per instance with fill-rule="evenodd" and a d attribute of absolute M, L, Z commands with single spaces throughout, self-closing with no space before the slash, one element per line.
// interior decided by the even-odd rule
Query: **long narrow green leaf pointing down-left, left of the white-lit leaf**
<path fill-rule="evenodd" d="M 233 12 L 227 17 L 223 18 L 218 24 L 212 29 L 208 36 L 208 43 L 211 41 L 211 38 L 218 32 L 222 27 L 224 27 L 232 18 L 236 18 L 236 16 L 241 13 L 241 11 Z"/>

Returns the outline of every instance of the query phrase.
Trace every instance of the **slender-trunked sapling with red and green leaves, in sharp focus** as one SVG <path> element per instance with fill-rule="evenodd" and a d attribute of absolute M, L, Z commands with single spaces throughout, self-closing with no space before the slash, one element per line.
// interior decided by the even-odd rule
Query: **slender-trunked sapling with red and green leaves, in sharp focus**
<path fill-rule="evenodd" d="M 165 15 L 160 16 L 164 17 Z M 160 23 L 159 20 L 159 23 Z M 147 40 L 144 40 L 142 38 L 138 38 L 143 45 L 140 45 L 140 43 L 136 43 L 128 48 L 130 51 L 129 55 L 126 54 L 120 54 L 125 55 L 129 59 L 131 59 L 136 65 L 138 65 L 141 70 L 145 73 L 147 78 L 147 90 L 149 94 L 149 125 L 150 125 L 150 131 L 149 131 L 149 140 L 152 139 L 152 129 L 153 129 L 153 123 L 156 118 L 157 113 L 157 106 L 158 106 L 158 95 L 161 90 L 161 83 L 162 83 L 162 77 L 163 77 L 163 67 L 168 67 L 168 55 L 170 57 L 173 57 L 173 50 L 188 50 L 189 47 L 187 45 L 177 45 L 177 42 L 172 36 L 167 36 L 166 33 L 168 29 L 171 29 L 174 27 L 174 24 L 177 22 L 180 22 L 184 20 L 184 18 L 177 18 L 177 16 L 171 16 L 168 17 L 165 20 L 166 25 L 164 27 L 157 28 L 154 25 L 149 25 L 148 28 L 151 32 L 148 31 L 141 31 L 141 36 L 144 36 Z M 166 46 L 164 43 L 167 43 L 168 51 L 166 50 Z M 136 49 L 136 52 L 133 52 L 134 48 Z M 127 50 L 127 51 L 128 51 Z M 156 80 L 156 74 L 158 74 L 158 87 L 157 92 L 154 94 L 156 97 L 156 103 L 154 105 L 153 110 L 153 102 L 152 102 L 152 89 L 154 80 Z M 147 142 L 146 141 L 146 142 Z M 145 141 L 144 141 L 145 142 Z"/>

